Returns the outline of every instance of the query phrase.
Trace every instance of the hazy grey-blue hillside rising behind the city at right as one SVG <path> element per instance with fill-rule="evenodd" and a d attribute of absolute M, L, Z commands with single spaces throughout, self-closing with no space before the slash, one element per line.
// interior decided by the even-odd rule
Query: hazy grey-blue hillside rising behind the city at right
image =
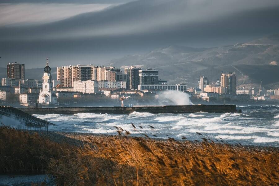
<path fill-rule="evenodd" d="M 159 70 L 159 78 L 169 83 L 184 82 L 189 87 L 197 86 L 201 75 L 215 82 L 220 73 L 236 72 L 237 84 L 267 88 L 278 87 L 279 67 L 269 65 L 279 61 L 279 34 L 258 40 L 216 48 L 191 48 L 168 46 L 144 55 L 125 56 L 110 60 L 116 67 L 141 65 L 143 68 Z"/>

